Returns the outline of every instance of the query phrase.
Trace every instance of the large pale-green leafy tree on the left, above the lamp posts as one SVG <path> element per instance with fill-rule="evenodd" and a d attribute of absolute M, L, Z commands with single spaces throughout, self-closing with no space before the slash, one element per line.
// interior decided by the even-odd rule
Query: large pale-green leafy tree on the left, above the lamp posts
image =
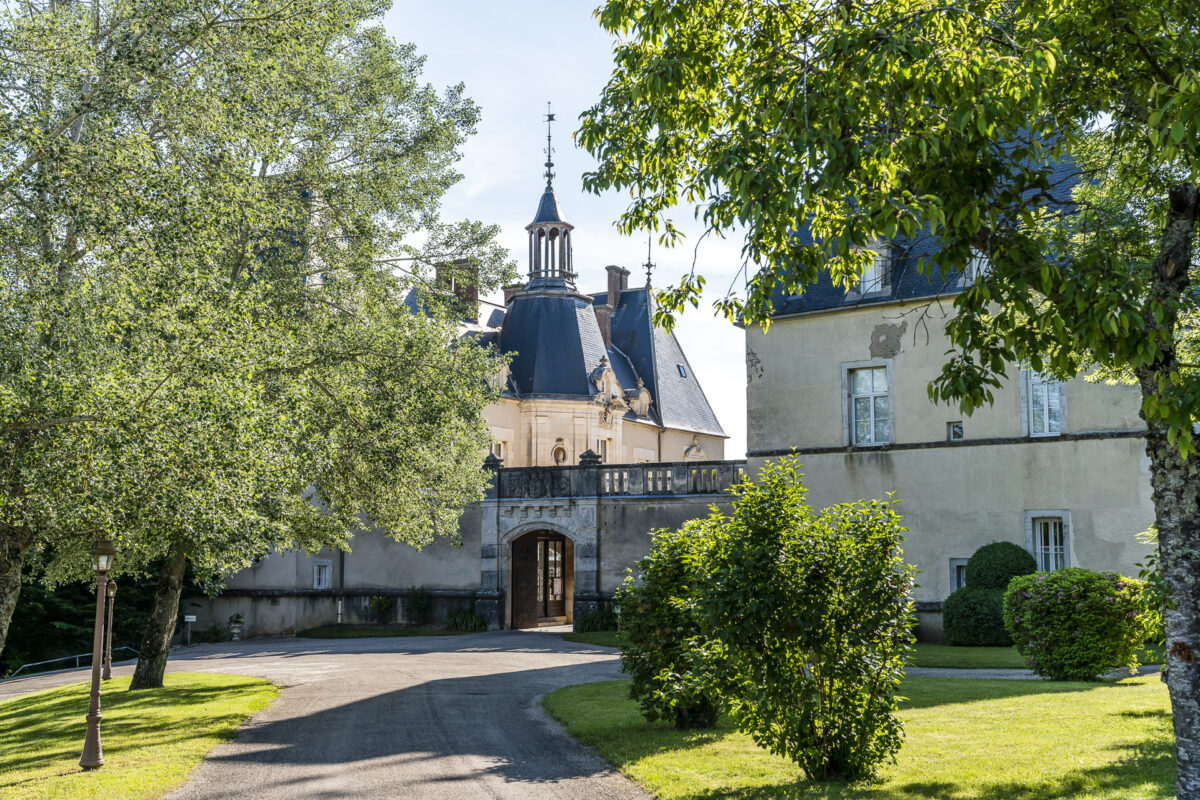
<path fill-rule="evenodd" d="M 164 565 L 161 682 L 190 560 L 452 535 L 484 486 L 497 365 L 434 261 L 484 287 L 494 228 L 438 221 L 478 118 L 365 24 L 373 1 L 55 4 L 0 23 L 0 648 L 32 552 L 100 535 Z M 28 13 L 24 13 L 28 12 Z M 420 248 L 409 242 L 424 234 Z"/>

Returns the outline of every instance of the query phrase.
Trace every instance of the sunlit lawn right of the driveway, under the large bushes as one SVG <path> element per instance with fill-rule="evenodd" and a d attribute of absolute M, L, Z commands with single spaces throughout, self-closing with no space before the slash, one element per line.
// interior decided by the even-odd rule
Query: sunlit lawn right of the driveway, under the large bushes
<path fill-rule="evenodd" d="M 1168 800 L 1166 687 L 1157 676 L 1066 684 L 910 678 L 906 741 L 875 783 L 816 783 L 722 721 L 647 723 L 628 681 L 546 696 L 551 715 L 662 800 Z"/>

